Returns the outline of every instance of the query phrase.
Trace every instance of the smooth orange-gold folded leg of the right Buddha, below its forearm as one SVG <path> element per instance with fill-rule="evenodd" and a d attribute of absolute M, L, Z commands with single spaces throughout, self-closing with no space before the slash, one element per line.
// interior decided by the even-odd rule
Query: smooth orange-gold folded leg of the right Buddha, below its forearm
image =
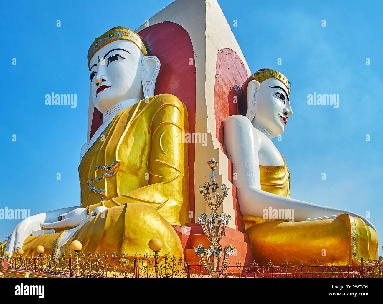
<path fill-rule="evenodd" d="M 285 261 L 298 265 L 346 262 L 349 258 L 349 232 L 341 219 L 307 222 L 274 221 L 246 230 L 256 262 Z"/>

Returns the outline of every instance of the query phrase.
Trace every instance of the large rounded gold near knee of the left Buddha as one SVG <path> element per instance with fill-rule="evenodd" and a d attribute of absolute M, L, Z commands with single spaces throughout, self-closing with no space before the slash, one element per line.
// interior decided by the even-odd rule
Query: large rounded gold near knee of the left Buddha
<path fill-rule="evenodd" d="M 83 244 L 82 252 L 85 254 L 150 255 L 149 241 L 152 238 L 163 243 L 160 255 L 182 255 L 177 234 L 155 208 L 128 203 L 97 214 L 64 244 L 64 252 L 71 253 L 69 244 L 77 240 Z"/>

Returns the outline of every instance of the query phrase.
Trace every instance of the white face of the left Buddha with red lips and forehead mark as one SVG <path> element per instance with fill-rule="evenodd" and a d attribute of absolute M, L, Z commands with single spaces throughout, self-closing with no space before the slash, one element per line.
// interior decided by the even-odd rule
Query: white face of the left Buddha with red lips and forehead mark
<path fill-rule="evenodd" d="M 116 40 L 103 46 L 90 59 L 93 102 L 101 113 L 118 102 L 144 98 L 142 57 L 133 42 Z"/>

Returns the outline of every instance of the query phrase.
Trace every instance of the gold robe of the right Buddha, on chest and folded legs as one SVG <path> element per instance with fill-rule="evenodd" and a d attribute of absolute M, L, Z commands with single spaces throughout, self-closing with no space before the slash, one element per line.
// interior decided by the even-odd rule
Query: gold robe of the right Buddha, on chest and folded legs
<path fill-rule="evenodd" d="M 290 197 L 290 172 L 283 166 L 259 166 L 261 189 Z M 288 222 L 244 216 L 254 260 L 266 265 L 286 261 L 292 266 L 336 262 L 360 265 L 360 259 L 377 259 L 378 236 L 363 222 L 347 214 L 336 219 Z"/>

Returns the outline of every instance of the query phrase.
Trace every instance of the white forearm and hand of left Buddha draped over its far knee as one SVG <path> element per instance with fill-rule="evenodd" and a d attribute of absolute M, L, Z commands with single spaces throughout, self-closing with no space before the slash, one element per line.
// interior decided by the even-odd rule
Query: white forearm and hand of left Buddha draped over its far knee
<path fill-rule="evenodd" d="M 64 220 L 59 225 L 54 225 L 54 221 L 57 221 L 59 216 L 64 218 Z M 41 227 L 44 229 L 75 227 L 80 224 L 83 219 L 82 216 L 85 218 L 85 208 L 78 207 L 62 208 L 29 216 L 13 229 L 8 238 L 6 250 L 9 251 L 10 256 L 12 256 L 14 252 L 17 253 L 17 250 L 23 247 L 25 239 L 30 236 L 32 232 L 40 231 Z"/>

